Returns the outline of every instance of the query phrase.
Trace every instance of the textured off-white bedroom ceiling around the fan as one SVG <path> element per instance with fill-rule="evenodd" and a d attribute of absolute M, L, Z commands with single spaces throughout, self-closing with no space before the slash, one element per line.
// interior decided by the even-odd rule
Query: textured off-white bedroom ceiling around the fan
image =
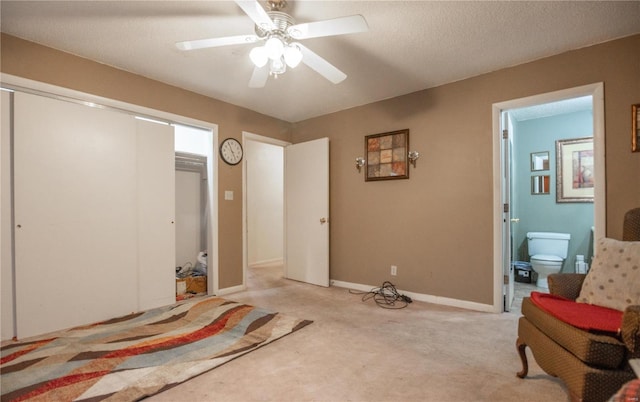
<path fill-rule="evenodd" d="M 261 1 L 265 5 L 265 2 Z M 248 87 L 251 45 L 175 42 L 253 33 L 230 1 L 7 1 L 3 32 L 289 122 L 640 32 L 640 1 L 290 1 L 296 22 L 363 15 L 369 32 L 305 40 L 348 77 L 305 65 Z"/>

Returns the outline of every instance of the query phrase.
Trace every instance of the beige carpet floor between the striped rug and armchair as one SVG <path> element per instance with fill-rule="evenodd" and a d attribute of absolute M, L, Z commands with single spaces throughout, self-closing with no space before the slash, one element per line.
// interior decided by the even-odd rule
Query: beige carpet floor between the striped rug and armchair
<path fill-rule="evenodd" d="M 148 400 L 568 401 L 529 351 L 529 377 L 516 377 L 519 307 L 387 310 L 347 289 L 285 280 L 281 267 L 253 268 L 247 284 L 225 297 L 314 323 Z"/>

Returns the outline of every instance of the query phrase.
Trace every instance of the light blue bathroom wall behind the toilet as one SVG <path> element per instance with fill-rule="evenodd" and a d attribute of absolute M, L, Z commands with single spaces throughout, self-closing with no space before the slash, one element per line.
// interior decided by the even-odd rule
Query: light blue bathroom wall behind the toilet
<path fill-rule="evenodd" d="M 570 233 L 569 252 L 562 272 L 573 272 L 575 256 L 593 255 L 593 203 L 556 203 L 556 140 L 593 136 L 593 114 L 582 111 L 513 123 L 512 225 L 514 259 L 529 261 L 527 232 Z M 531 153 L 549 152 L 549 170 L 531 171 Z M 532 195 L 531 177 L 549 175 L 549 194 Z"/>

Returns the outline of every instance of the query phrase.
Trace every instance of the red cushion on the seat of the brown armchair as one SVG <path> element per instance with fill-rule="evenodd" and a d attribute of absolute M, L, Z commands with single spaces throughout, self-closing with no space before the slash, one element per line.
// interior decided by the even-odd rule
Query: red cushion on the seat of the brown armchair
<path fill-rule="evenodd" d="M 622 311 L 593 304 L 576 303 L 548 293 L 531 292 L 531 301 L 542 310 L 576 328 L 618 334 Z"/>

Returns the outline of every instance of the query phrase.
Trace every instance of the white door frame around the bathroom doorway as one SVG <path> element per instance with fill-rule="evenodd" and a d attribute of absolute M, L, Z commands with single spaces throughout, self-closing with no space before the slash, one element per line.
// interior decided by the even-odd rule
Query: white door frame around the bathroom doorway
<path fill-rule="evenodd" d="M 593 151 L 595 155 L 594 185 L 594 238 L 606 235 L 606 174 L 605 174 L 605 130 L 604 130 L 604 84 L 583 85 L 580 87 L 549 92 L 525 98 L 494 103 L 493 119 L 493 311 L 502 311 L 503 306 L 503 261 L 502 261 L 502 185 L 501 185 L 501 112 L 541 103 L 592 96 L 593 102 Z"/>

